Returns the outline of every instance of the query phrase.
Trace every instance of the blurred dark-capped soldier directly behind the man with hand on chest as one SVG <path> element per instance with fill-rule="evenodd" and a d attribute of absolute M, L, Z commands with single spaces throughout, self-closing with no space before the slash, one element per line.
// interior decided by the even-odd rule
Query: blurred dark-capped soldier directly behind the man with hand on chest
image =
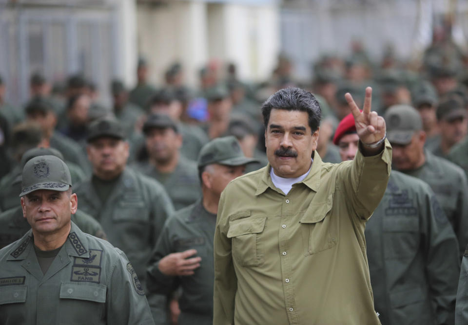
<path fill-rule="evenodd" d="M 164 186 L 176 210 L 195 203 L 201 196 L 196 162 L 181 155 L 182 135 L 176 122 L 154 113 L 143 125 L 143 133 L 149 158 L 137 169 Z"/>

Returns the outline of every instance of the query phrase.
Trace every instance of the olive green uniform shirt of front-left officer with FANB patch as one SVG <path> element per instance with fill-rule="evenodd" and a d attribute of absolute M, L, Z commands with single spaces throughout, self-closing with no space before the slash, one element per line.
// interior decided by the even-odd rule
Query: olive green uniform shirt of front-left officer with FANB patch
<path fill-rule="evenodd" d="M 32 231 L 0 250 L 0 324 L 154 324 L 125 253 L 84 234 L 70 234 L 45 274 Z"/>

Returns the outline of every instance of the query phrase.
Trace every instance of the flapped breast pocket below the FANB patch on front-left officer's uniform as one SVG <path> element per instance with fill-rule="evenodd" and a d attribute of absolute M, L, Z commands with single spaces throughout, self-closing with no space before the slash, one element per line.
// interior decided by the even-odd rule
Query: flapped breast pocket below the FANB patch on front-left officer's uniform
<path fill-rule="evenodd" d="M 59 324 L 98 324 L 104 319 L 107 287 L 101 283 L 62 282 Z"/>

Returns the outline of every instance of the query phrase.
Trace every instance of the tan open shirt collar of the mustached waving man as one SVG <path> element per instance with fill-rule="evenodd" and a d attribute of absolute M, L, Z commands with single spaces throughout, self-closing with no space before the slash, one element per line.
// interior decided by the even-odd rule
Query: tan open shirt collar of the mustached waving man
<path fill-rule="evenodd" d="M 270 163 L 268 163 L 268 165 L 263 169 L 262 176 L 257 185 L 257 191 L 255 192 L 256 196 L 264 193 L 269 187 L 273 189 L 274 191 L 282 194 L 282 192 L 278 190 L 276 186 L 274 186 L 272 178 L 270 177 L 271 168 L 272 166 L 270 165 Z M 320 155 L 318 154 L 318 152 L 315 150 L 314 155 L 313 155 L 311 171 L 309 172 L 309 175 L 307 175 L 307 177 L 299 183 L 303 183 L 307 187 L 309 187 L 312 191 L 317 192 L 318 188 L 320 187 L 321 170 L 322 170 L 322 159 L 320 158 Z"/>

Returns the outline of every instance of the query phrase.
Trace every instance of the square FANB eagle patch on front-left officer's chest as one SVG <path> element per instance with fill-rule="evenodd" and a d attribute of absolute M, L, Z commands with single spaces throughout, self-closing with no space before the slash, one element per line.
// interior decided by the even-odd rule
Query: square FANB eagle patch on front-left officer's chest
<path fill-rule="evenodd" d="M 99 283 L 102 250 L 89 250 L 89 257 L 75 257 L 70 281 Z"/>

